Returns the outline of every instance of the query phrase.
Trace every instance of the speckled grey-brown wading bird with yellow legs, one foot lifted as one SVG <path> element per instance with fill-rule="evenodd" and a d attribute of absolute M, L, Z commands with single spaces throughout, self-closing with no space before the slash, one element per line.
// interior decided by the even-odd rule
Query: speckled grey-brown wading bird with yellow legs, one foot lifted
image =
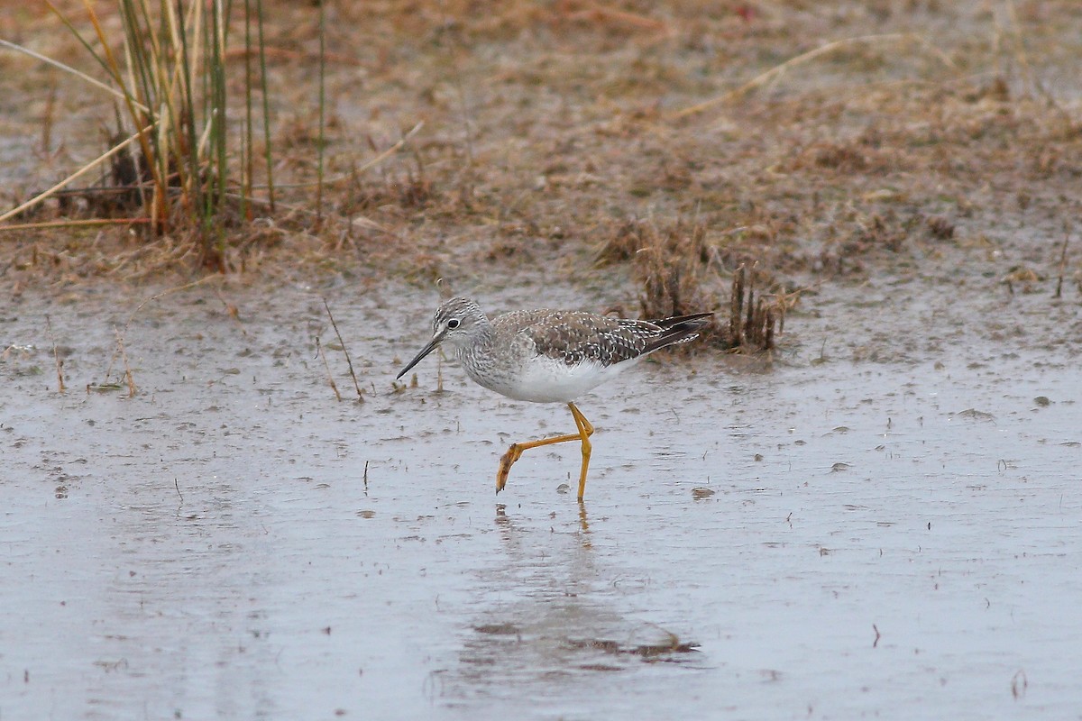
<path fill-rule="evenodd" d="M 541 309 L 516 310 L 489 320 L 470 298 L 451 298 L 436 309 L 432 341 L 397 377 L 406 375 L 440 343 L 449 343 L 477 384 L 519 401 L 567 403 L 579 432 L 513 443 L 500 458 L 496 492 L 503 490 L 511 465 L 523 451 L 581 441 L 582 500 L 594 427 L 573 401 L 655 350 L 694 341 L 712 315 L 625 320 L 577 310 Z"/>

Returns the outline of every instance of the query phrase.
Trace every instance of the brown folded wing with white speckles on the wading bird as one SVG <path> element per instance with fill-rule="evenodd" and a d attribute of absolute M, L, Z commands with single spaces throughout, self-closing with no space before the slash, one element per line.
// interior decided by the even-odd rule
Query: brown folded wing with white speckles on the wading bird
<path fill-rule="evenodd" d="M 517 310 L 493 321 L 498 333 L 528 338 L 539 356 L 568 365 L 594 361 L 611 365 L 636 358 L 650 348 L 664 330 L 645 320 L 609 318 L 578 310 Z"/>

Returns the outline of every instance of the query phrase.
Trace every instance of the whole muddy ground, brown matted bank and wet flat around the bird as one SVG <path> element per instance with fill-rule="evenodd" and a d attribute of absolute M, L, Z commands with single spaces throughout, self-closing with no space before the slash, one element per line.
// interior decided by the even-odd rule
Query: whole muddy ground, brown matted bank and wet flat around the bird
<path fill-rule="evenodd" d="M 181 237 L 0 236 L 0 717 L 1077 717 L 1076 4 L 466 10 L 331 9 L 332 170 L 423 132 L 338 219 L 238 231 L 232 273 Z M 313 10 L 275 12 L 303 101 Z M 0 63 L 14 204 L 111 110 Z M 280 102 L 307 179 L 312 106 Z M 493 494 L 563 406 L 435 357 L 393 383 L 434 278 L 636 313 L 694 227 L 690 299 L 757 263 L 784 332 L 584 398 L 581 506 L 567 446 Z"/>

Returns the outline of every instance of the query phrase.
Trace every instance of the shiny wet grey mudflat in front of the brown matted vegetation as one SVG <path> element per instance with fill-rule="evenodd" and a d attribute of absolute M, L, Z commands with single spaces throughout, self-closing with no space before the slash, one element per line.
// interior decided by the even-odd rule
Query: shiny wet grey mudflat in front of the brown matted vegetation
<path fill-rule="evenodd" d="M 1078 718 L 1082 370 L 1027 336 L 1077 306 L 824 293 L 768 372 L 644 363 L 580 507 L 571 444 L 493 495 L 565 408 L 393 390 L 434 294 L 320 293 L 362 404 L 305 289 L 148 304 L 131 398 L 85 386 L 146 294 L 3 312 L 0 717 Z"/>

